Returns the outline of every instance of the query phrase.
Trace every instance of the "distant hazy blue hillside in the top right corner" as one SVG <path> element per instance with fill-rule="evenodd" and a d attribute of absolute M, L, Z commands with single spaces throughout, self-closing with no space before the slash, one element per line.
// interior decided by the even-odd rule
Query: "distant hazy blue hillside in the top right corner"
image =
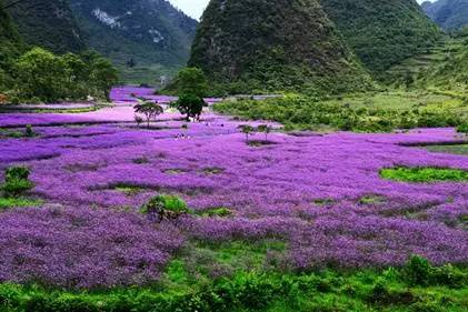
<path fill-rule="evenodd" d="M 421 6 L 428 17 L 445 30 L 452 31 L 468 26 L 468 0 L 426 1 Z"/>

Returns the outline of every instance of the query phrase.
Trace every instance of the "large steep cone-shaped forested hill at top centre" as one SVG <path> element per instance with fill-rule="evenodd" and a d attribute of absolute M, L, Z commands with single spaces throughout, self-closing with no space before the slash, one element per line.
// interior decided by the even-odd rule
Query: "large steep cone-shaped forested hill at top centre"
<path fill-rule="evenodd" d="M 189 64 L 219 92 L 343 92 L 370 81 L 317 0 L 212 0 Z"/>

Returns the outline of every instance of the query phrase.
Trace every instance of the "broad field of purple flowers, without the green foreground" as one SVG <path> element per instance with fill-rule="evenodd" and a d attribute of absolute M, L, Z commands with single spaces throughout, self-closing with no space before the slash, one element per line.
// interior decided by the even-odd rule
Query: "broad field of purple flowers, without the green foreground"
<path fill-rule="evenodd" d="M 116 89 L 112 97 L 132 103 L 131 93 L 156 97 L 136 88 Z M 288 262 L 300 270 L 399 265 L 411 254 L 436 264 L 468 262 L 468 183 L 379 177 L 395 165 L 468 170 L 467 157 L 404 145 L 452 141 L 452 129 L 273 132 L 270 144 L 250 147 L 229 118 L 207 112 L 188 129 L 180 118 L 165 113 L 148 130 L 132 123 L 131 104 L 79 114 L 1 114 L 0 128 L 33 124 L 40 134 L 0 140 L 0 169 L 29 167 L 33 195 L 47 204 L 0 214 L 0 281 L 147 283 L 193 239 L 283 240 Z M 157 193 L 232 215 L 155 225 L 138 208 Z"/>

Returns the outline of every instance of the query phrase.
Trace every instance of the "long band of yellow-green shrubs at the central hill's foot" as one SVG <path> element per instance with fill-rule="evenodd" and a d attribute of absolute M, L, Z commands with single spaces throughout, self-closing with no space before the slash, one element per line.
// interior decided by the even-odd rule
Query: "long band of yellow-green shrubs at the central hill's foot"
<path fill-rule="evenodd" d="M 216 104 L 215 110 L 243 119 L 273 120 L 285 124 L 287 130 L 316 130 L 326 125 L 345 131 L 382 132 L 455 127 L 461 122 L 458 113 L 446 109 L 354 107 L 342 101 L 326 102 L 297 95 L 265 101 L 225 101 Z"/>

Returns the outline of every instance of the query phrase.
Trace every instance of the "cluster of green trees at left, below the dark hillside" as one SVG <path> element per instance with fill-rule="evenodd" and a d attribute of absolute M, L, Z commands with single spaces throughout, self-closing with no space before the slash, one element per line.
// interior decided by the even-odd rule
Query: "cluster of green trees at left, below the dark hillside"
<path fill-rule="evenodd" d="M 10 102 L 53 102 L 88 95 L 109 99 L 118 82 L 112 63 L 93 51 L 56 56 L 33 48 L 14 59 L 3 74 L 8 76 L 2 87 Z"/>

